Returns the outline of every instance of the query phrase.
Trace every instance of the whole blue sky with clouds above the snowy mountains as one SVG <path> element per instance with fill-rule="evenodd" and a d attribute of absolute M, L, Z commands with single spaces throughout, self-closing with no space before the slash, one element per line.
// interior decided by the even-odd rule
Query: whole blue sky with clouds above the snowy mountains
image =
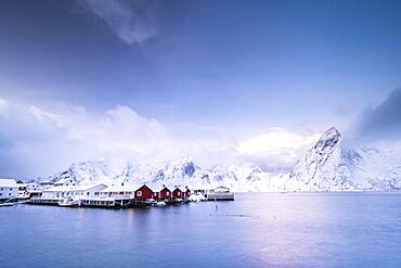
<path fill-rule="evenodd" d="M 183 155 L 290 166 L 331 126 L 396 140 L 400 12 L 399 1 L 1 1 L 0 176 Z"/>

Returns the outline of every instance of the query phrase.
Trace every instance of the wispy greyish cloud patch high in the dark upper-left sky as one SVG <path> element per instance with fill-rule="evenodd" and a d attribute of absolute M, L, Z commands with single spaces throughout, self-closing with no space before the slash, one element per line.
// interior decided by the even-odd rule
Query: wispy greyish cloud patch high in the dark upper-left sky
<path fill-rule="evenodd" d="M 85 0 L 85 5 L 128 44 L 142 43 L 156 35 L 148 2 Z"/>

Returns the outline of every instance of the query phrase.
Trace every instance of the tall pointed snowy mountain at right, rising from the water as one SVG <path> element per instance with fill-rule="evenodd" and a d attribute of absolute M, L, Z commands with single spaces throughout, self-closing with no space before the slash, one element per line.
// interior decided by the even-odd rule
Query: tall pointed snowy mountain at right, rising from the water
<path fill-rule="evenodd" d="M 397 157 L 377 149 L 348 149 L 329 128 L 299 159 L 286 183 L 288 191 L 398 190 Z"/>

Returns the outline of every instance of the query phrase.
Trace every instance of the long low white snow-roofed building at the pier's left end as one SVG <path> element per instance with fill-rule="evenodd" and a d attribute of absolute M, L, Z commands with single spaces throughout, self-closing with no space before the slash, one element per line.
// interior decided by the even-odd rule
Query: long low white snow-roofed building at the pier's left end
<path fill-rule="evenodd" d="M 62 199 L 62 197 L 99 197 L 102 190 L 107 188 L 103 183 L 86 186 L 60 186 L 43 190 L 42 199 Z"/>

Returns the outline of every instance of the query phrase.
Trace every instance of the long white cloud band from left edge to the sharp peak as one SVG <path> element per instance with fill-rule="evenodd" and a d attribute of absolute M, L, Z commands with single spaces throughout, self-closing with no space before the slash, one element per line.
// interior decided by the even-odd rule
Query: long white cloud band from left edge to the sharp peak
<path fill-rule="evenodd" d="M 147 164 L 191 156 L 203 166 L 240 165 L 264 168 L 294 164 L 316 139 L 316 133 L 273 128 L 256 137 L 231 137 L 171 131 L 132 109 L 89 113 L 80 106 L 52 111 L 0 99 L 0 176 L 33 178 L 64 170 L 72 163 L 105 159 L 119 165 Z"/>

